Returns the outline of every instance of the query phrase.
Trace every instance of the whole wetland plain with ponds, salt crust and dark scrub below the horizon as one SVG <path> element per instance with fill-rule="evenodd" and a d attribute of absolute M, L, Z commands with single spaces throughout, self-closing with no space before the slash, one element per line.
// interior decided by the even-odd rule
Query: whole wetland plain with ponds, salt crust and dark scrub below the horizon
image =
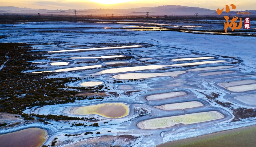
<path fill-rule="evenodd" d="M 0 146 L 255 145 L 255 21 L 223 22 L 0 24 Z"/>

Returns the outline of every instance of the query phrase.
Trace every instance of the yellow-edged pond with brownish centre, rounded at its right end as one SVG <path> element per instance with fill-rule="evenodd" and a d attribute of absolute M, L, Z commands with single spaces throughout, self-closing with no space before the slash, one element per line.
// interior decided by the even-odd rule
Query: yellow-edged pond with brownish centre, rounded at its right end
<path fill-rule="evenodd" d="M 123 103 L 102 103 L 97 105 L 73 107 L 70 109 L 70 114 L 96 114 L 107 118 L 121 118 L 129 114 L 129 107 Z"/>

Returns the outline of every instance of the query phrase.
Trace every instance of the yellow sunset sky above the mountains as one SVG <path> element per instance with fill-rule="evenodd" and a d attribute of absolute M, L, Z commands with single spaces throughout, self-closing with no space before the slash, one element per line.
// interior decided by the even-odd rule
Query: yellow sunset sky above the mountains
<path fill-rule="evenodd" d="M 1 0 L 0 6 L 27 7 L 31 9 L 128 9 L 162 5 L 182 5 L 211 10 L 234 4 L 236 10 L 256 10 L 256 0 Z"/>

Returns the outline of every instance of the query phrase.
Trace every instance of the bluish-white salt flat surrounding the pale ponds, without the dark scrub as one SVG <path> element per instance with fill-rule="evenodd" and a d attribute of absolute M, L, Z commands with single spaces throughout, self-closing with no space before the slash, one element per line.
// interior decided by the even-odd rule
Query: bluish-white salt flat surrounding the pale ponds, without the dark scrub
<path fill-rule="evenodd" d="M 0 35 L 7 37 L 1 38 L 1 43 L 25 42 L 33 47 L 32 52 L 44 57 L 38 62 L 31 61 L 36 62 L 33 64 L 28 62 L 31 68 L 27 68 L 23 76 L 56 79 L 62 85 L 59 91 L 79 93 L 64 97 L 70 101 L 75 99 L 73 102 L 62 103 L 59 98 L 42 106 L 35 102 L 36 106 L 27 107 L 23 113 L 87 117 L 88 120 L 43 118 L 51 125 L 32 116 L 35 121 L 0 128 L 1 134 L 40 127 L 49 135 L 45 145 L 51 145 L 55 137 L 59 138 L 57 146 L 67 146 L 63 142 L 84 145 L 83 142 L 91 139 L 101 142 L 107 137 L 127 135 L 138 137 L 133 141 L 134 146 L 151 147 L 256 124 L 253 119 L 256 51 L 252 50 L 256 46 L 255 37 L 170 31 L 169 28 L 209 26 L 207 23 L 174 25 L 169 20 L 151 21 L 5 24 Z M 161 27 L 154 26 L 161 24 Z M 222 29 L 220 25 L 213 27 Z M 58 67 L 61 65 L 57 63 L 66 65 Z M 62 83 L 61 78 L 71 79 Z M 38 81 L 36 85 L 39 87 L 39 84 Z M 50 84 L 47 88 L 52 88 Z M 17 95 L 18 99 L 25 96 Z M 82 113 L 106 103 L 125 104 L 129 112 L 124 117 L 107 117 L 102 115 L 104 110 L 96 109 L 97 112 Z M 82 107 L 80 114 L 69 113 L 71 108 Z M 111 107 L 111 111 L 118 112 L 118 109 Z M 79 123 L 88 126 L 72 125 Z M 99 126 L 89 126 L 94 123 Z M 93 134 L 84 135 L 85 132 Z M 63 134 L 81 135 L 67 138 Z"/>

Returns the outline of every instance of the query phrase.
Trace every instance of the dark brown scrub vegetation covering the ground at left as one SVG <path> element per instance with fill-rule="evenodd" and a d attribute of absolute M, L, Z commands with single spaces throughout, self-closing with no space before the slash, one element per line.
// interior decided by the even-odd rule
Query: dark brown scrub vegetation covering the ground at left
<path fill-rule="evenodd" d="M 42 52 L 33 52 L 33 48 L 26 43 L 0 43 L 0 63 L 6 61 L 8 53 L 9 60 L 5 67 L 0 71 L 0 111 L 11 114 L 22 114 L 27 107 L 34 106 L 65 104 L 75 101 L 79 92 L 95 93 L 103 88 L 98 87 L 69 87 L 65 84 L 81 80 L 79 78 L 52 78 L 47 79 L 45 76 L 52 73 L 22 73 L 28 70 L 38 70 L 31 60 L 42 60 L 47 57 Z M 73 89 L 76 89 L 75 91 Z"/>

